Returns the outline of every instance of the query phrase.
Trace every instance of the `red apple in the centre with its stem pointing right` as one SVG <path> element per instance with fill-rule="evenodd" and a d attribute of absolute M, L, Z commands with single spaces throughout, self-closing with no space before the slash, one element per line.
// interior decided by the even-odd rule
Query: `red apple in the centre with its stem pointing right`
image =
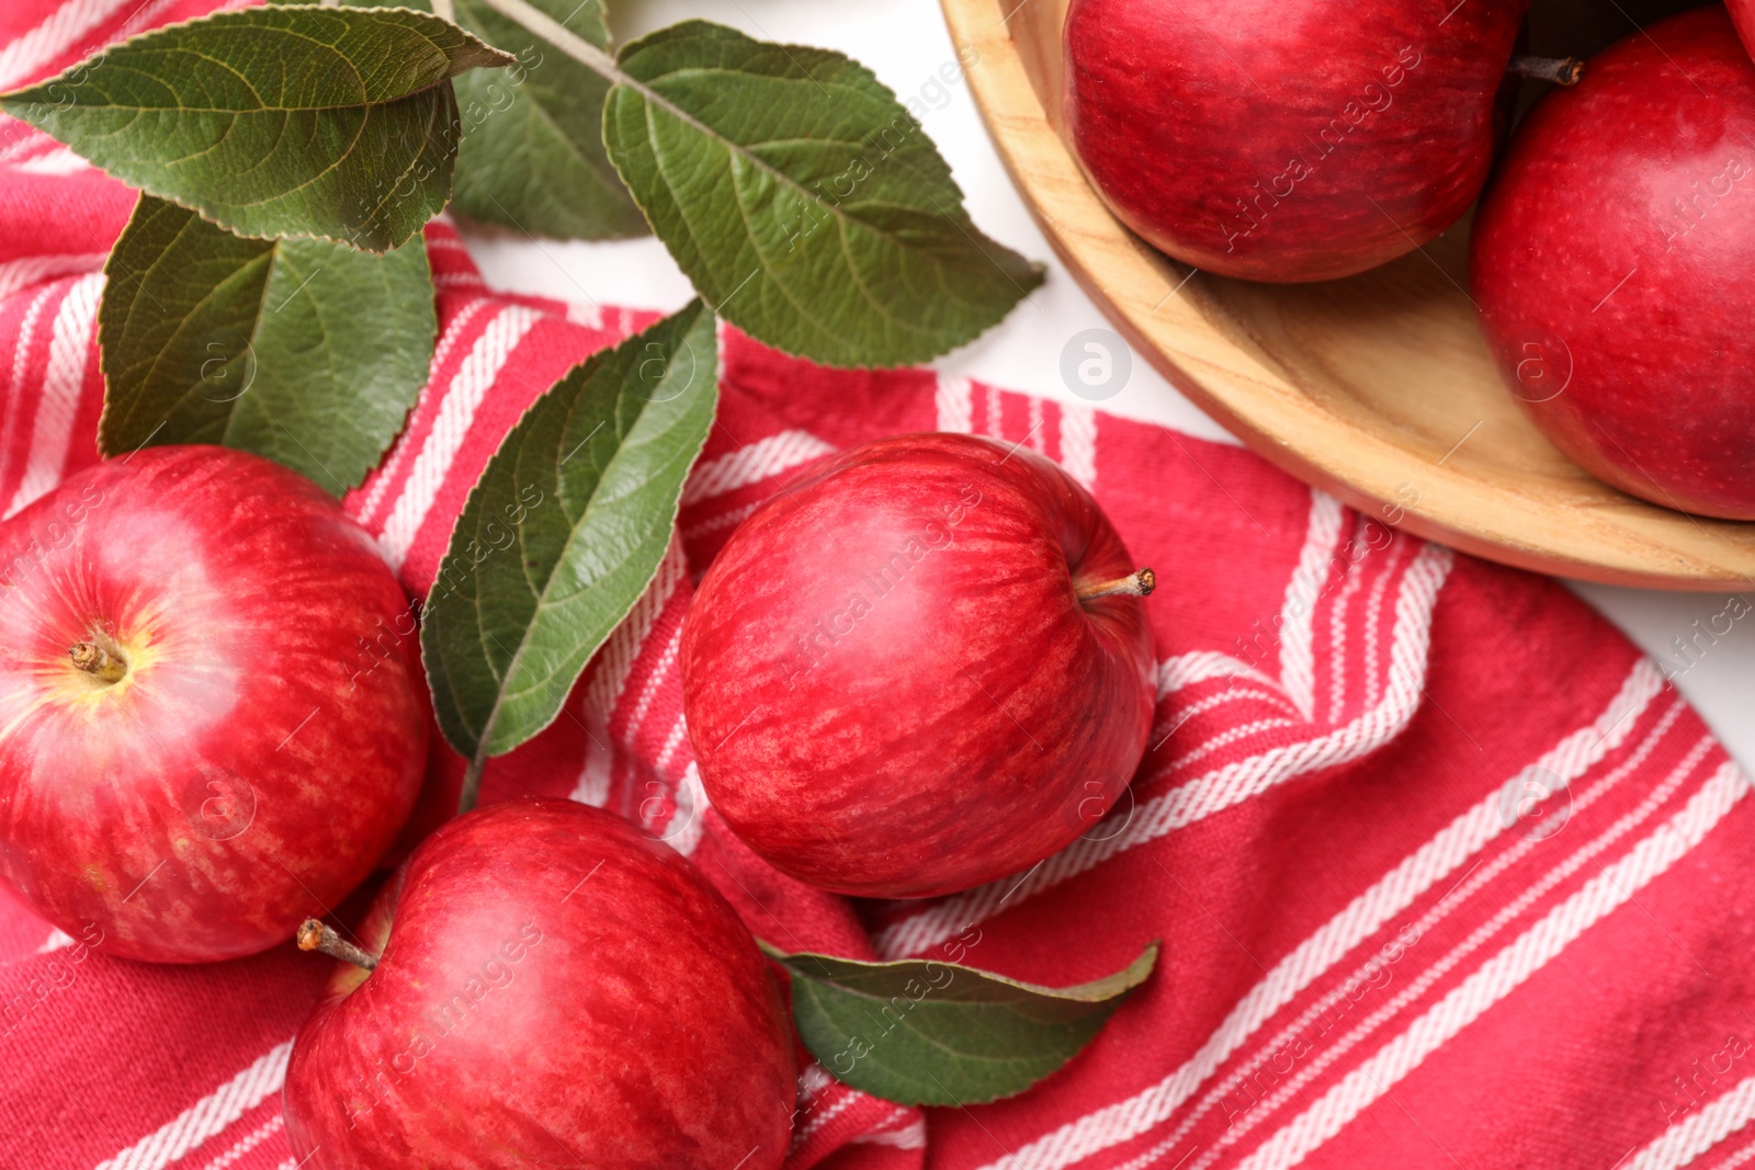
<path fill-rule="evenodd" d="M 807 470 L 683 624 L 713 805 L 837 893 L 923 898 L 1041 861 L 1146 747 L 1151 633 L 1139 596 L 1104 591 L 1139 593 L 1132 574 L 1090 493 L 1020 447 L 904 435 Z"/>

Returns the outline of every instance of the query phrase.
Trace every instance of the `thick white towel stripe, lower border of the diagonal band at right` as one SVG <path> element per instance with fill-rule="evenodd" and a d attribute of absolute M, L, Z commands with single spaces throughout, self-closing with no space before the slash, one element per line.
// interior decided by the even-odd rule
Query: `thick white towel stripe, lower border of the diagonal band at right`
<path fill-rule="evenodd" d="M 1404 1033 L 1385 1044 L 1297 1119 L 1258 1145 L 1239 1170 L 1278 1170 L 1304 1161 L 1400 1084 L 1444 1042 L 1516 991 L 1572 940 L 1687 856 L 1748 795 L 1748 779 L 1736 765 L 1727 763 L 1720 768 L 1681 812 L 1483 963 Z"/>

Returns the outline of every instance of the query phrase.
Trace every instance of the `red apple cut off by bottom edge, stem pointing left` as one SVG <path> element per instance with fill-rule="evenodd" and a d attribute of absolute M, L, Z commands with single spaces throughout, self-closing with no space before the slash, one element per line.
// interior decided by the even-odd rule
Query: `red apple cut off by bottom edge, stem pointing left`
<path fill-rule="evenodd" d="M 397 872 L 360 944 L 377 967 L 339 967 L 293 1042 L 302 1166 L 784 1161 L 779 991 L 725 898 L 627 821 L 565 800 L 462 816 Z"/>

